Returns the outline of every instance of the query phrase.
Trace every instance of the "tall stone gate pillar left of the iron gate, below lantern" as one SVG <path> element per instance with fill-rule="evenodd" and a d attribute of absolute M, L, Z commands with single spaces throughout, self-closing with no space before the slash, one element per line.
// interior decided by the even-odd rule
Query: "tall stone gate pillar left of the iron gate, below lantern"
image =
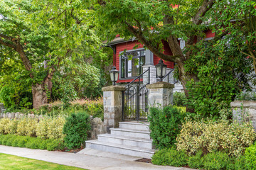
<path fill-rule="evenodd" d="M 109 132 L 110 128 L 118 128 L 122 121 L 122 91 L 124 86 L 106 86 L 103 91 L 104 125 Z"/>

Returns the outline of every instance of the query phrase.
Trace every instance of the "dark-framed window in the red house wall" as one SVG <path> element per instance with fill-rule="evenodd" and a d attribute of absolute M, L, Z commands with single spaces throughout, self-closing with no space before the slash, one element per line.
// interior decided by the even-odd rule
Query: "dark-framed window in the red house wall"
<path fill-rule="evenodd" d="M 145 50 L 124 52 L 121 55 L 121 78 L 137 77 L 145 64 Z"/>

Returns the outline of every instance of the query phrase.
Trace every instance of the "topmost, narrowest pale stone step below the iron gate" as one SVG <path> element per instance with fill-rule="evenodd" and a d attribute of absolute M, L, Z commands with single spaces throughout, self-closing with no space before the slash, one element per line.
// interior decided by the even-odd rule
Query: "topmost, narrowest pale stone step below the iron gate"
<path fill-rule="evenodd" d="M 149 131 L 149 123 L 143 122 L 119 122 L 119 128 L 132 130 L 147 130 Z"/>

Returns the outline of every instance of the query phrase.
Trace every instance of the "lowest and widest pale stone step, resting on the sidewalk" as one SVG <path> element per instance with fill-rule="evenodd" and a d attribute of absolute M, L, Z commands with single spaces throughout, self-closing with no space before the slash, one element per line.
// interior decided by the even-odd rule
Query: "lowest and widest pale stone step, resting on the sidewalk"
<path fill-rule="evenodd" d="M 154 154 L 153 149 L 112 144 L 108 142 L 100 142 L 98 140 L 85 141 L 85 145 L 87 148 L 102 150 L 105 152 L 114 152 L 117 154 L 127 154 L 134 157 L 144 157 L 148 159 L 151 159 Z"/>

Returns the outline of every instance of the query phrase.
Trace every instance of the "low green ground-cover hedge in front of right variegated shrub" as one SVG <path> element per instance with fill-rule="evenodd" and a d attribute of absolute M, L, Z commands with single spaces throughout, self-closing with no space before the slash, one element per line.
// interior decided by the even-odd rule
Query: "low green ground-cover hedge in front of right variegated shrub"
<path fill-rule="evenodd" d="M 207 170 L 243 170 L 251 169 L 245 167 L 246 157 L 230 157 L 225 152 L 214 151 L 203 155 L 202 150 L 198 150 L 195 155 L 188 157 L 186 152 L 177 151 L 173 148 L 165 148 L 157 151 L 152 157 L 152 163 L 157 165 L 169 166 L 189 166 L 193 169 L 207 169 Z M 252 166 L 255 169 L 255 166 Z"/>

